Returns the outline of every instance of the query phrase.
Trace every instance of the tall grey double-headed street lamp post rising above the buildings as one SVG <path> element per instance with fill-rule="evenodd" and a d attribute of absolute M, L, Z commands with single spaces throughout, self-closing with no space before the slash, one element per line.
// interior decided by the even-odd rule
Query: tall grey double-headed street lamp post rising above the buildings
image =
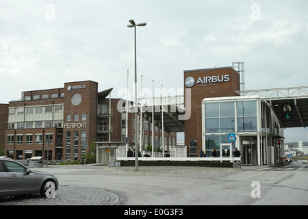
<path fill-rule="evenodd" d="M 138 171 L 138 103 L 137 103 L 137 55 L 136 55 L 136 27 L 144 27 L 146 23 L 138 23 L 136 24 L 135 21 L 132 19 L 129 20 L 130 25 L 127 27 L 135 28 L 135 171 Z"/>

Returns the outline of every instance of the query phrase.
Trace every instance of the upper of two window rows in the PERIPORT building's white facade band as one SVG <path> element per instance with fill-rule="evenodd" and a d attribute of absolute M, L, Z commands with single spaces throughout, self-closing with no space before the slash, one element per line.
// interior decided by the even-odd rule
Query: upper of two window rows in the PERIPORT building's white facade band
<path fill-rule="evenodd" d="M 54 111 L 53 111 L 54 107 Z M 46 105 L 40 107 L 18 107 L 10 108 L 9 115 L 23 114 L 48 114 L 52 112 L 63 112 L 63 105 Z"/>

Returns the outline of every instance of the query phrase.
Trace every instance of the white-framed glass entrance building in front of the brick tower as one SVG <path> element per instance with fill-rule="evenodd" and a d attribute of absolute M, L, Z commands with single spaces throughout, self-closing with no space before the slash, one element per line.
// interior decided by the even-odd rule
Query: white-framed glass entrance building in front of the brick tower
<path fill-rule="evenodd" d="M 212 151 L 216 150 L 217 157 L 231 159 L 232 151 L 238 148 L 242 164 L 279 162 L 278 141 L 283 138 L 283 129 L 270 105 L 259 96 L 205 98 L 202 124 L 202 148 L 208 157 L 212 157 Z M 235 139 L 230 133 L 235 133 Z"/>

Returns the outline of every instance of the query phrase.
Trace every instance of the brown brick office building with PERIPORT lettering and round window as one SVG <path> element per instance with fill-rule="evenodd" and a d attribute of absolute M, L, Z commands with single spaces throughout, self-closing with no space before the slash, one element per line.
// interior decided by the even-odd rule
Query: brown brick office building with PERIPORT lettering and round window
<path fill-rule="evenodd" d="M 42 156 L 52 161 L 73 161 L 80 159 L 93 141 L 121 142 L 126 117 L 117 110 L 120 99 L 112 99 L 111 91 L 98 92 L 94 81 L 68 82 L 64 88 L 22 92 L 20 100 L 0 105 L 0 143 L 5 144 L 6 155 L 14 159 Z M 129 114 L 131 144 L 133 118 Z M 144 122 L 146 125 L 149 123 Z M 143 145 L 148 144 L 146 136 L 150 132 L 144 129 Z M 156 136 L 159 133 L 155 131 Z M 175 146 L 176 134 L 165 136 Z"/>

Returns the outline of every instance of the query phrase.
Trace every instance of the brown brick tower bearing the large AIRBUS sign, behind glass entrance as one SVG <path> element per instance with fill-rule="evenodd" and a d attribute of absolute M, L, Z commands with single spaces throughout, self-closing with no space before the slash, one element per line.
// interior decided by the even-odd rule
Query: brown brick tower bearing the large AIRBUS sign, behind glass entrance
<path fill-rule="evenodd" d="M 190 119 L 185 120 L 185 145 L 188 157 L 197 157 L 202 149 L 202 101 L 209 97 L 238 96 L 240 75 L 232 67 L 184 70 L 184 87 L 190 88 Z"/>

